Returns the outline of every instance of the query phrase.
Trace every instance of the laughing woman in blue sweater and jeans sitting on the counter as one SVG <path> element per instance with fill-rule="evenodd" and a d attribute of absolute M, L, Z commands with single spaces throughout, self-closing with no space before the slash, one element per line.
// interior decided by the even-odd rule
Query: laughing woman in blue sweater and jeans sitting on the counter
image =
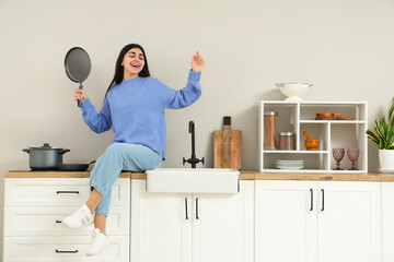
<path fill-rule="evenodd" d="M 86 255 L 100 253 L 109 245 L 105 231 L 112 187 L 121 170 L 154 169 L 165 160 L 164 109 L 192 105 L 201 95 L 199 83 L 204 59 L 197 51 L 186 87 L 174 91 L 150 78 L 147 56 L 137 44 L 125 46 L 116 61 L 115 75 L 97 114 L 84 91 L 76 90 L 82 117 L 96 133 L 114 129 L 113 143 L 99 157 L 91 171 L 91 195 L 72 215 L 62 219 L 70 228 L 94 223 L 92 243 Z"/>

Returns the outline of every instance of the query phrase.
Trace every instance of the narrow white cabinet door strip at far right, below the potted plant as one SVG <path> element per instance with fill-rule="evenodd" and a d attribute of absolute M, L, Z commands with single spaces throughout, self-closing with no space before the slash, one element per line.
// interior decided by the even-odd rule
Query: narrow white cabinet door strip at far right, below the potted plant
<path fill-rule="evenodd" d="M 382 182 L 383 262 L 394 261 L 394 182 Z"/>

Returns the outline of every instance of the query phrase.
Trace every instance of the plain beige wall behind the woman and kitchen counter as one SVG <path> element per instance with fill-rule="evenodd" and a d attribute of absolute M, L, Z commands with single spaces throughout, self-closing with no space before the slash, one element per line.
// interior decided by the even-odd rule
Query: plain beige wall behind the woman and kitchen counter
<path fill-rule="evenodd" d="M 49 142 L 71 150 L 65 162 L 81 163 L 111 143 L 112 132 L 90 131 L 73 100 L 78 85 L 63 72 L 73 46 L 91 56 L 84 86 L 99 108 L 126 44 L 141 44 L 153 76 L 176 90 L 199 49 L 202 96 L 166 111 L 162 166 L 181 167 L 189 157 L 194 120 L 197 157 L 211 167 L 212 131 L 229 115 L 243 132 L 243 169 L 257 169 L 256 102 L 282 99 L 275 83 L 313 83 L 309 100 L 368 100 L 372 127 L 394 95 L 393 25 L 392 0 L 0 0 L 0 174 L 28 167 L 26 146 Z M 0 215 L 2 223 L 1 209 Z"/>

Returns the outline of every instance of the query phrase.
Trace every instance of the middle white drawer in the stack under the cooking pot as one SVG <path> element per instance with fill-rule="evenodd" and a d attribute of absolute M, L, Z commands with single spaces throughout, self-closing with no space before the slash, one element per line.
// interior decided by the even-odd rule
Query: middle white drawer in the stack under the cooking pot
<path fill-rule="evenodd" d="M 74 207 L 5 207 L 4 236 L 90 236 L 93 225 L 74 230 L 56 222 L 74 211 Z M 128 236 L 129 207 L 109 207 L 106 228 L 109 236 Z"/>

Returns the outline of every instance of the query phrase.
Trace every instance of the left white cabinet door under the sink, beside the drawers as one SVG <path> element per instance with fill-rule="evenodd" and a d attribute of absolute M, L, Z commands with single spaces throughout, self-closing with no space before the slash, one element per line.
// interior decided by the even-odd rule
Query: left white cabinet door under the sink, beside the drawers
<path fill-rule="evenodd" d="M 132 179 L 130 261 L 190 262 L 190 211 L 192 194 L 147 193 L 146 180 Z"/>

